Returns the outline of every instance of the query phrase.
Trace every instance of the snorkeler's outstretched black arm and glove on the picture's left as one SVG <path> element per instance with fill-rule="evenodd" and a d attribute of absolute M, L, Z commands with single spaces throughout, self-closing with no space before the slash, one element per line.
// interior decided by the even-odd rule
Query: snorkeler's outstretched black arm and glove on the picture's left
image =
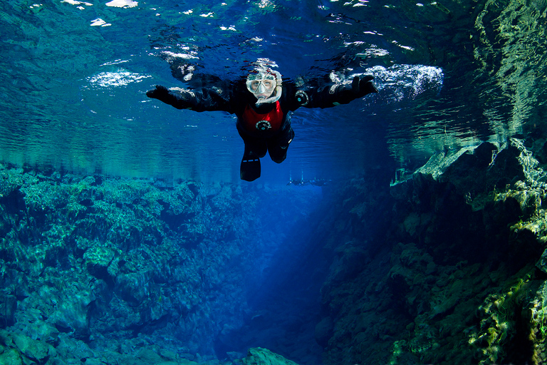
<path fill-rule="evenodd" d="M 146 96 L 155 98 L 177 109 L 192 109 L 195 111 L 230 111 L 229 91 L 222 88 L 199 88 L 197 90 L 168 89 L 157 85 L 147 91 Z"/>

